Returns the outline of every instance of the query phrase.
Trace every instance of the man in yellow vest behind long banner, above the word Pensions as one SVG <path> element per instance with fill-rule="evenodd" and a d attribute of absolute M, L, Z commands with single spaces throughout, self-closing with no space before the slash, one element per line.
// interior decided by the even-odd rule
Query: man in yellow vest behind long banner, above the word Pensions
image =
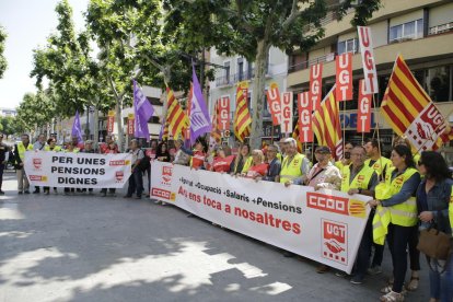
<path fill-rule="evenodd" d="M 280 182 L 284 186 L 302 185 L 310 171 L 310 161 L 298 152 L 298 144 L 293 138 L 284 139 L 283 148 L 286 156 L 281 163 L 280 176 L 276 177 L 276 182 Z"/>

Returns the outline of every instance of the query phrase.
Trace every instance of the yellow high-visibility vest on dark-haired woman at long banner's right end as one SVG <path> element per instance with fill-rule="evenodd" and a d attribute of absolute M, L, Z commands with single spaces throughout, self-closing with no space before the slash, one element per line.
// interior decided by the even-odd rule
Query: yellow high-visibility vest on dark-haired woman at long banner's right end
<path fill-rule="evenodd" d="M 415 173 L 418 173 L 416 169 L 408 167 L 393 181 L 391 181 L 392 173 L 386 173 L 385 184 L 390 196 L 399 193 L 404 183 Z M 414 226 L 417 224 L 417 202 L 415 197 L 410 197 L 406 201 L 391 207 L 379 206 L 373 219 L 373 240 L 376 244 L 384 244 L 390 223 L 402 226 Z"/>

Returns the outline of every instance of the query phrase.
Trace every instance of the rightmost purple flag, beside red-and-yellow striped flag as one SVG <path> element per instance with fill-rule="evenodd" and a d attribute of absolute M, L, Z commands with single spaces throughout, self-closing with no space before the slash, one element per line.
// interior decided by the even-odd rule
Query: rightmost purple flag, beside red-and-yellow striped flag
<path fill-rule="evenodd" d="M 191 78 L 194 93 L 190 106 L 190 143 L 194 144 L 198 137 L 211 131 L 212 125 L 194 65 L 191 65 Z"/>

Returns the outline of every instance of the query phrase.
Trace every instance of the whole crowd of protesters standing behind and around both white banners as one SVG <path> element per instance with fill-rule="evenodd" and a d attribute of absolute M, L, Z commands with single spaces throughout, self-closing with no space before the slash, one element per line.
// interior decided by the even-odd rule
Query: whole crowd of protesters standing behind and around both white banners
<path fill-rule="evenodd" d="M 0 173 L 9 159 L 8 148 L 1 142 L 0 136 Z M 23 135 L 21 142 L 14 146 L 12 160 L 18 175 L 18 193 L 30 194 L 30 184 L 23 170 L 24 153 L 27 150 L 47 152 L 85 152 L 102 154 L 118 153 L 118 146 L 112 136 L 95 150 L 93 141 L 84 143 L 77 138 L 59 147 L 55 137 L 47 141 L 39 136 L 35 143 Z M 373 224 L 376 207 L 381 206 L 392 212 L 386 234 L 386 244 L 392 255 L 393 276 L 383 286 L 381 301 L 404 301 L 407 291 L 416 291 L 420 281 L 420 253 L 417 249 L 419 232 L 435 226 L 452 235 L 453 200 L 451 172 L 443 156 L 433 151 L 414 154 L 407 140 L 396 139 L 392 146 L 390 159 L 382 155 L 382 147 L 375 139 L 364 144 L 347 142 L 344 156 L 335 162 L 332 151 L 326 146 L 315 148 L 312 163 L 310 156 L 298 151 L 297 141 L 292 138 L 282 139 L 279 143 L 265 146 L 263 149 L 251 149 L 246 143 L 230 148 L 216 146 L 208 148 L 204 139 L 198 139 L 191 148 L 185 147 L 183 140 L 175 140 L 174 147 L 167 142 L 153 141 L 151 148 L 143 150 L 138 140 L 131 140 L 128 151 L 132 155 L 132 173 L 129 178 L 125 198 L 142 198 L 143 191 L 150 190 L 150 161 L 172 162 L 187 165 L 194 170 L 207 170 L 225 173 L 235 177 L 246 177 L 256 182 L 278 182 L 286 187 L 302 185 L 317 189 L 341 190 L 349 195 L 361 194 L 372 197 L 369 202 L 371 213 L 367 222 L 359 246 L 351 283 L 361 284 L 367 275 L 382 272 L 384 245 L 373 243 Z M 144 188 L 143 176 L 147 175 L 148 186 Z M 385 194 L 382 187 L 386 187 Z M 49 187 L 44 187 L 50 194 Z M 58 189 L 54 188 L 58 194 Z M 39 187 L 33 191 L 39 194 Z M 93 189 L 65 188 L 65 195 L 94 194 Z M 0 182 L 0 194 L 1 182 Z M 116 196 L 114 188 L 103 188 L 101 196 Z M 149 197 L 149 195 L 147 195 Z M 162 202 L 162 205 L 165 205 Z M 450 211 L 449 211 L 450 210 Z M 453 248 L 453 247 L 452 247 Z M 284 252 L 284 256 L 293 254 Z M 453 301 L 453 257 L 448 260 L 428 259 L 430 272 L 430 301 Z M 406 271 L 410 268 L 410 278 L 406 280 Z M 324 274 L 330 268 L 325 265 L 317 267 Z M 336 275 L 347 277 L 337 271 Z"/>

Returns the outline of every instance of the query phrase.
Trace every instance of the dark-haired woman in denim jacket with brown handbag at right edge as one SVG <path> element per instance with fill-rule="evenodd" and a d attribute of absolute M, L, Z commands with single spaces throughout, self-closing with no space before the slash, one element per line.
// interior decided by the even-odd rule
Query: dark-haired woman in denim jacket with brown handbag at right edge
<path fill-rule="evenodd" d="M 421 153 L 418 170 L 425 176 L 417 190 L 420 229 L 435 226 L 452 235 L 449 208 L 453 208 L 453 181 L 445 160 L 440 153 L 426 151 Z M 453 257 L 446 264 L 429 259 L 429 265 L 430 302 L 453 301 Z M 444 267 L 445 271 L 440 274 Z"/>

